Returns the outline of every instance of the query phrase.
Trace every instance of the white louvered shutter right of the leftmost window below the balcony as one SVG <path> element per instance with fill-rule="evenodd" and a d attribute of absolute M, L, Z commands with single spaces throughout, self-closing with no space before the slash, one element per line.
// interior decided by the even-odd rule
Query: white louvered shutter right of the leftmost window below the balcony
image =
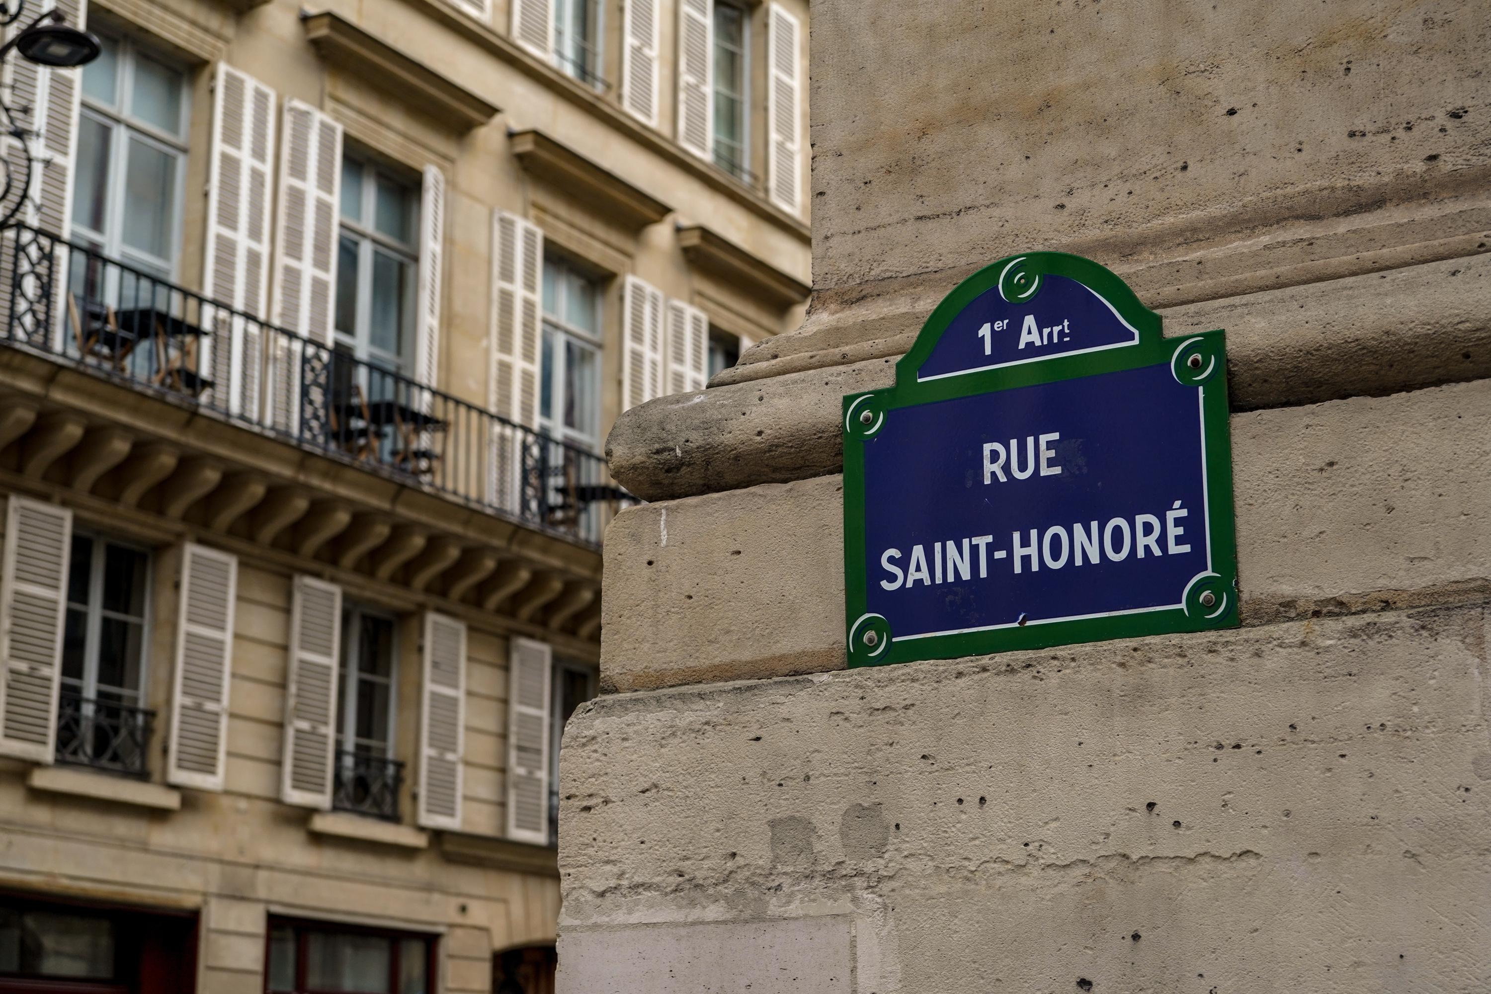
<path fill-rule="evenodd" d="M 166 779 L 171 784 L 222 790 L 237 586 L 236 556 L 194 542 L 185 545 L 166 757 Z"/>

